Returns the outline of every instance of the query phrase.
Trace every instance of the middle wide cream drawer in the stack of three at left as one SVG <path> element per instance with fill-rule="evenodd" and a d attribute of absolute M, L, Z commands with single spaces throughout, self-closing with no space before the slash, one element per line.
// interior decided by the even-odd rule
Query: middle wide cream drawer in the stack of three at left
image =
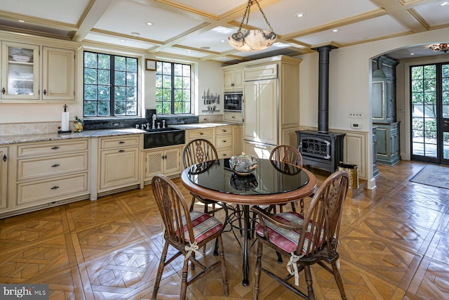
<path fill-rule="evenodd" d="M 87 152 L 74 155 L 60 155 L 57 157 L 42 157 L 35 159 L 18 160 L 18 180 L 32 179 L 48 176 L 60 176 L 62 174 L 87 171 Z"/>

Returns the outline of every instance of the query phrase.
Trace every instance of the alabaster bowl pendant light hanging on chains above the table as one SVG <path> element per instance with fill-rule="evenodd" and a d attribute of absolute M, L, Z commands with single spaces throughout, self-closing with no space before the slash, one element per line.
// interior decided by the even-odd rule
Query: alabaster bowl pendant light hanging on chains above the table
<path fill-rule="evenodd" d="M 257 4 L 260 13 L 262 13 L 265 22 L 267 22 L 269 30 L 248 30 L 248 20 L 250 19 L 250 7 L 253 5 L 253 2 Z M 242 29 L 243 22 L 245 22 L 245 19 L 246 19 L 246 29 Z M 245 13 L 243 15 L 243 18 L 241 19 L 239 30 L 237 30 L 236 33 L 230 35 L 228 38 L 229 45 L 231 45 L 232 48 L 235 48 L 236 50 L 249 52 L 266 49 L 269 46 L 272 46 L 272 44 L 274 44 L 275 41 L 276 41 L 276 34 L 273 32 L 272 25 L 269 25 L 267 17 L 262 11 L 259 2 L 257 2 L 257 0 L 248 0 Z"/>

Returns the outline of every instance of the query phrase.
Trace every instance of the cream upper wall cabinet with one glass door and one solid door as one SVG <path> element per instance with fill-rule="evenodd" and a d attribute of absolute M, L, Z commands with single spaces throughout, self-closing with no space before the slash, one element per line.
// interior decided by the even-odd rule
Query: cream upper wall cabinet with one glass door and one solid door
<path fill-rule="evenodd" d="M 0 101 L 74 101 L 75 55 L 73 47 L 1 41 Z"/>

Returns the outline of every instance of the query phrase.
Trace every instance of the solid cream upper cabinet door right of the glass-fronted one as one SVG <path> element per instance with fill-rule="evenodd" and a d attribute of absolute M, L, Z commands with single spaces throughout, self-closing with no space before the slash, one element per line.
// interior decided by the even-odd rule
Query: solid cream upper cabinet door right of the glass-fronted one
<path fill-rule="evenodd" d="M 75 51 L 43 47 L 43 100 L 75 99 Z"/>

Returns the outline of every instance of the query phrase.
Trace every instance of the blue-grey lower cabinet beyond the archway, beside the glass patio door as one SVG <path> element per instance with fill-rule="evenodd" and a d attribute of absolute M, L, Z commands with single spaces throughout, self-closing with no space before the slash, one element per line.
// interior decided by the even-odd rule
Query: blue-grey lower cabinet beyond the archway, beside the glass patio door
<path fill-rule="evenodd" d="M 399 122 L 373 123 L 376 126 L 377 164 L 393 166 L 401 160 Z"/>

